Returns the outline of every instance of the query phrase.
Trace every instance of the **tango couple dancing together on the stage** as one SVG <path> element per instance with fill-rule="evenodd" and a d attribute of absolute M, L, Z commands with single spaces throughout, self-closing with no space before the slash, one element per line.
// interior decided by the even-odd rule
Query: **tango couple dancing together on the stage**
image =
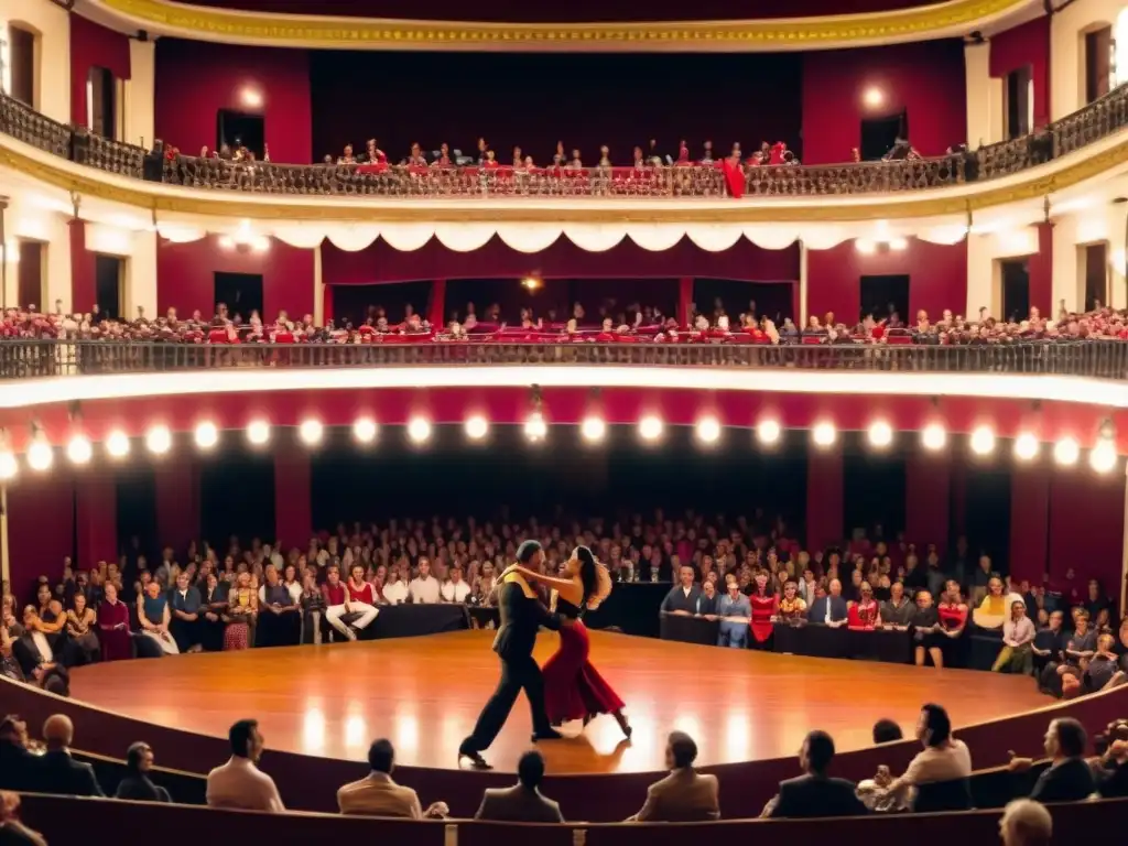
<path fill-rule="evenodd" d="M 558 740 L 563 735 L 554 726 L 569 720 L 587 725 L 598 714 L 613 714 L 631 737 L 623 700 L 588 660 L 591 643 L 581 620 L 584 609 L 597 607 L 611 592 L 611 578 L 585 546 L 573 550 L 562 578 L 540 574 L 544 557 L 540 544 L 526 540 L 517 550 L 517 564 L 499 579 L 501 625 L 493 650 L 501 659 L 501 678 L 474 732 L 458 748 L 459 763 L 467 758 L 477 769 L 491 768 L 482 751 L 497 737 L 522 689 L 532 710 L 532 742 Z M 554 610 L 540 602 L 532 582 L 553 589 Z M 559 649 L 543 668 L 532 659 L 540 626 L 561 635 Z"/>

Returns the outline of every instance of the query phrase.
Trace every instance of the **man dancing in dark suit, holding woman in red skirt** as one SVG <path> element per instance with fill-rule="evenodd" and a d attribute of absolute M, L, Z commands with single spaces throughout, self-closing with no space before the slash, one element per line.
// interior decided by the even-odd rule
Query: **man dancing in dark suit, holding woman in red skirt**
<path fill-rule="evenodd" d="M 530 570 L 538 569 L 544 557 L 544 549 L 536 540 L 526 540 L 517 550 L 517 563 Z M 501 611 L 501 626 L 494 637 L 493 650 L 501 659 L 501 679 L 494 695 L 482 708 L 474 733 L 458 747 L 458 760 L 469 758 L 475 769 L 492 768 L 482 757 L 482 750 L 487 749 L 497 737 L 521 688 L 525 688 L 532 711 L 532 742 L 558 740 L 563 737 L 548 723 L 545 685 L 540 667 L 532 660 L 532 646 L 537 642 L 537 629 L 540 626 L 558 631 L 561 626 L 571 625 L 571 620 L 558 614 L 550 614 L 525 578 L 509 570 L 502 574 L 497 588 L 497 607 Z"/>

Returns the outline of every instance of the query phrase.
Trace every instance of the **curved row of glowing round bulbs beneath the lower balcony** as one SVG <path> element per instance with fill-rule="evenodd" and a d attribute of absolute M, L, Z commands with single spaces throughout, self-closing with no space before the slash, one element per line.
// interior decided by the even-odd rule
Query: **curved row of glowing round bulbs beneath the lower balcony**
<path fill-rule="evenodd" d="M 464 423 L 466 437 L 472 441 L 481 441 L 490 433 L 490 421 L 482 415 L 473 415 Z M 540 412 L 530 414 L 523 425 L 525 435 L 532 442 L 544 441 L 548 437 L 548 423 Z M 666 423 L 656 415 L 646 415 L 638 421 L 638 437 L 646 443 L 655 443 L 662 439 L 666 431 Z M 756 425 L 756 439 L 765 447 L 772 447 L 779 441 L 783 435 L 783 428 L 779 422 L 773 418 L 765 418 Z M 358 443 L 372 443 L 379 429 L 371 417 L 360 417 L 352 426 L 353 438 Z M 706 415 L 700 417 L 694 425 L 697 440 L 705 446 L 713 446 L 721 440 L 722 425 L 715 416 Z M 272 428 L 265 420 L 254 420 L 245 430 L 248 443 L 252 447 L 265 447 L 271 440 Z M 422 446 L 431 439 L 431 421 L 423 416 L 412 417 L 407 422 L 407 438 L 416 444 Z M 580 434 L 589 443 L 598 443 L 607 435 L 607 422 L 599 416 L 589 415 L 580 423 Z M 214 449 L 220 441 L 220 430 L 211 421 L 204 421 L 196 425 L 194 432 L 196 447 L 209 451 Z M 324 424 L 315 418 L 308 418 L 298 426 L 298 438 L 307 447 L 317 447 L 325 438 Z M 870 446 L 876 450 L 888 449 L 895 438 L 893 428 L 883 420 L 874 421 L 867 432 L 866 438 Z M 816 447 L 827 449 L 837 441 L 838 430 L 834 423 L 822 421 L 816 423 L 811 429 L 811 441 Z M 981 457 L 989 456 L 995 451 L 995 431 L 987 425 L 977 428 L 971 433 L 971 451 Z M 144 435 L 146 448 L 156 456 L 161 456 L 173 448 L 173 432 L 165 425 L 151 426 Z M 938 451 L 948 444 L 948 432 L 940 423 L 929 423 L 920 430 L 920 443 L 929 451 Z M 121 430 L 115 430 L 106 438 L 105 450 L 113 459 L 124 459 L 129 456 L 131 441 L 127 434 Z M 67 457 L 74 465 L 89 464 L 94 458 L 94 444 L 85 434 L 76 434 L 67 443 Z M 1031 432 L 1022 432 L 1014 440 L 1014 456 L 1021 461 L 1032 461 L 1041 452 L 1041 442 Z M 27 466 L 43 473 L 51 469 L 54 462 L 54 449 L 42 431 L 37 432 L 27 448 Z M 1073 466 L 1081 458 L 1081 444 L 1073 438 L 1063 438 L 1054 444 L 1054 460 L 1061 466 Z M 1096 446 L 1089 453 L 1090 466 L 1098 473 L 1108 473 L 1117 465 L 1117 449 L 1113 439 L 1108 434 L 1102 434 Z M 16 456 L 7 449 L 0 450 L 0 481 L 14 478 L 19 472 L 19 464 Z"/>

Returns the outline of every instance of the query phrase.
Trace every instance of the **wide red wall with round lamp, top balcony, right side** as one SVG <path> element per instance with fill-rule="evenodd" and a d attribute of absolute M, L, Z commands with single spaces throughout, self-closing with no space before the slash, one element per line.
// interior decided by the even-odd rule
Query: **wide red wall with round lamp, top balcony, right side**
<path fill-rule="evenodd" d="M 940 156 L 967 136 L 962 42 L 931 41 L 803 54 L 803 161 L 848 161 L 862 143 L 862 118 L 908 113 L 909 141 L 923 156 Z M 863 95 L 884 92 L 869 111 Z"/>

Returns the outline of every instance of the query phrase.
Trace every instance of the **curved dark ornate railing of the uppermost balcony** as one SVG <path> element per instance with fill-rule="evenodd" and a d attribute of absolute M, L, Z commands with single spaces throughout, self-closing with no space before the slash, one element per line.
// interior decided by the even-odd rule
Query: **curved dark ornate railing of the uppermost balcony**
<path fill-rule="evenodd" d="M 830 196 L 923 191 L 997 179 L 1081 150 L 1128 127 L 1128 86 L 1012 141 L 938 158 L 744 168 L 744 195 Z M 139 147 L 90 134 L 0 95 L 0 132 L 81 165 L 193 188 L 280 195 L 404 199 L 490 196 L 719 197 L 719 168 L 689 165 L 576 170 L 235 162 Z"/>

